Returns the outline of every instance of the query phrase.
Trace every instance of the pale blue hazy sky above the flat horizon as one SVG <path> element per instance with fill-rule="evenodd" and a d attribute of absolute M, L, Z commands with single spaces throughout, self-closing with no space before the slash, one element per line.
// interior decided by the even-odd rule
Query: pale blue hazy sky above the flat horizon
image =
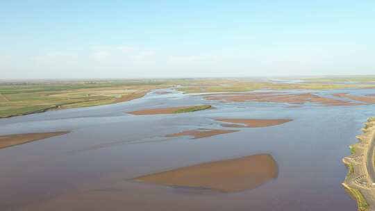
<path fill-rule="evenodd" d="M 0 79 L 375 74 L 375 1 L 0 0 Z"/>

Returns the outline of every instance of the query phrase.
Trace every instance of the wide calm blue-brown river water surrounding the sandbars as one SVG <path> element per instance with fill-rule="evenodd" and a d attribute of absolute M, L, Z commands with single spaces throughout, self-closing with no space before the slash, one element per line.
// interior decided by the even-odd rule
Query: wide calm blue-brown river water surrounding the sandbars
<path fill-rule="evenodd" d="M 179 92 L 0 119 L 0 135 L 72 133 L 0 150 L 1 210 L 356 210 L 341 186 L 342 158 L 375 105 L 287 108 L 287 103 L 221 103 Z M 342 92 L 319 92 L 327 95 Z M 374 94 L 375 90 L 344 90 Z M 217 109 L 134 116 L 147 108 L 211 104 Z M 165 137 L 225 129 L 213 118 L 294 119 L 204 137 Z M 271 154 L 278 178 L 231 194 L 135 183 L 131 178 L 201 162 Z"/>

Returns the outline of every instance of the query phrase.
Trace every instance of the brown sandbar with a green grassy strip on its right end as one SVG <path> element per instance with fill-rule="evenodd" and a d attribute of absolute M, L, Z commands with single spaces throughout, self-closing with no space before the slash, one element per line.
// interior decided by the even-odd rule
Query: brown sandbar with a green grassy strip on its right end
<path fill-rule="evenodd" d="M 213 108 L 211 105 L 192 105 L 192 106 L 180 106 L 171 108 L 151 108 L 145 110 L 135 110 L 128 112 L 132 115 L 166 115 L 166 114 L 176 114 L 183 112 L 194 112 L 198 110 L 206 110 Z"/>

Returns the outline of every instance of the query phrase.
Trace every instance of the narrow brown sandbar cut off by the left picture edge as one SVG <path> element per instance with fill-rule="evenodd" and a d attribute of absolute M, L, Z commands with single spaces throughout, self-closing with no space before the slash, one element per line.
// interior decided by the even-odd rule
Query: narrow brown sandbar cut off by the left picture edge
<path fill-rule="evenodd" d="M 48 137 L 64 135 L 69 133 L 69 131 L 61 132 L 51 132 L 51 133 L 23 133 L 16 135 L 1 135 L 0 136 L 0 149 L 6 148 L 9 146 L 15 146 L 19 144 L 25 144 L 28 142 L 34 142 L 37 140 L 43 140 Z"/>

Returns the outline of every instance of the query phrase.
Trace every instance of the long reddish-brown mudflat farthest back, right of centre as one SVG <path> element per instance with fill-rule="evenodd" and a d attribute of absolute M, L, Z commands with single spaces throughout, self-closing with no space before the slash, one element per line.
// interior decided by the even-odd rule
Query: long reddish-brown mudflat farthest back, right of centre
<path fill-rule="evenodd" d="M 205 97 L 206 100 L 229 101 L 229 102 L 272 102 L 272 103 L 318 103 L 322 105 L 359 105 L 349 101 L 324 98 L 315 94 L 275 94 L 274 92 L 258 92 L 245 94 L 222 94 L 210 95 Z"/>

